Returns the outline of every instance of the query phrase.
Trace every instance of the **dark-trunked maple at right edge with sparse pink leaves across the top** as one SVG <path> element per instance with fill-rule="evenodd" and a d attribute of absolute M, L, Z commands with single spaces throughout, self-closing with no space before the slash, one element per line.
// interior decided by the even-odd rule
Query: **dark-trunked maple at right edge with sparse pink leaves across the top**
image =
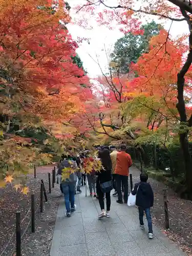
<path fill-rule="evenodd" d="M 101 9 L 99 9 L 99 7 Z M 167 1 L 141 1 L 137 8 L 136 1 L 117 1 L 116 5 L 110 5 L 108 2 L 101 0 L 87 1 L 86 4 L 78 6 L 77 12 L 84 11 L 90 13 L 90 17 L 97 19 L 100 25 L 112 28 L 114 20 L 119 24 L 120 30 L 123 32 L 133 31 L 135 33 L 142 33 L 140 30 L 142 17 L 150 15 L 155 16 L 160 20 L 172 20 L 175 22 L 186 21 L 186 26 L 189 28 L 188 47 L 185 49 L 187 57 L 183 59 L 179 70 L 177 72 L 176 90 L 177 90 L 177 103 L 175 108 L 179 113 L 180 123 L 180 145 L 183 152 L 183 160 L 185 163 L 185 180 L 186 191 L 185 195 L 191 197 L 192 175 L 191 175 L 191 157 L 189 154 L 188 133 L 192 124 L 192 114 L 189 118 L 186 114 L 186 103 L 184 97 L 186 73 L 190 69 L 192 63 L 192 7 L 190 1 L 183 0 L 167 0 Z M 78 20 L 79 22 L 79 20 Z M 81 24 L 81 23 L 80 23 Z M 88 19 L 84 24 L 89 24 Z M 182 31 L 181 31 L 182 34 Z M 166 41 L 162 42 L 164 45 Z M 156 53 L 157 54 L 157 53 Z M 160 60 L 159 60 L 160 61 Z M 159 62 L 156 63 L 158 69 Z M 188 111 L 187 111 L 188 112 Z"/>

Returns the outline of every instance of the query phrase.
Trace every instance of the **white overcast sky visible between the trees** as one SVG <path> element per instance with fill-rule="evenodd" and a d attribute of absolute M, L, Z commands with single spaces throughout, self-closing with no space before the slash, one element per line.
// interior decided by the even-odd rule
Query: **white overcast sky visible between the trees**
<path fill-rule="evenodd" d="M 84 0 L 68 0 L 68 3 L 73 8 L 75 5 L 83 5 L 85 1 Z M 116 0 L 108 0 L 108 5 L 117 5 Z M 102 9 L 101 9 L 102 10 Z M 75 12 L 71 11 L 72 18 L 75 17 Z M 152 18 L 158 22 L 158 20 L 152 16 L 148 16 L 147 22 L 150 22 Z M 81 60 L 83 61 L 83 67 L 88 71 L 88 74 L 90 77 L 94 78 L 96 76 L 101 75 L 100 68 L 95 63 L 95 61 L 92 59 L 94 58 L 96 60 L 96 55 L 99 57 L 99 63 L 104 69 L 108 65 L 108 60 L 106 58 L 105 52 L 102 50 L 105 46 L 105 48 L 110 51 L 110 49 L 113 49 L 113 46 L 118 38 L 123 36 L 123 33 L 119 31 L 118 28 L 114 30 L 109 30 L 106 27 L 98 26 L 96 22 L 94 22 L 92 19 L 90 19 L 90 23 L 93 26 L 92 30 L 86 30 L 82 27 L 79 27 L 77 25 L 70 24 L 68 25 L 69 32 L 71 33 L 72 37 L 76 39 L 79 37 L 88 37 L 90 38 L 90 45 L 87 42 L 83 42 L 78 50 L 77 53 L 79 54 Z M 143 24 L 146 23 L 146 20 L 143 20 Z M 164 28 L 166 30 L 169 29 L 171 24 L 171 21 L 167 21 L 164 24 Z M 186 22 L 173 22 L 172 28 L 170 29 L 170 34 L 172 36 L 178 36 L 182 33 L 188 33 L 188 26 Z M 92 58 L 89 56 L 91 55 Z"/>

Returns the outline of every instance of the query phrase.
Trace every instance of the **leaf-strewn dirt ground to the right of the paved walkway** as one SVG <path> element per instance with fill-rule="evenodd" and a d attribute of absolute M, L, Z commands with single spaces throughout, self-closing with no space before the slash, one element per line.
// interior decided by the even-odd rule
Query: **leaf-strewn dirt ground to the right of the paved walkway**
<path fill-rule="evenodd" d="M 133 169 L 133 182 L 138 182 L 140 172 Z M 137 175 L 136 175 L 137 174 Z M 148 179 L 154 190 L 154 207 L 152 208 L 153 222 L 162 232 L 179 245 L 188 255 L 192 255 L 192 202 L 180 199 L 179 196 L 163 183 Z M 167 188 L 169 230 L 164 225 L 163 189 Z"/>

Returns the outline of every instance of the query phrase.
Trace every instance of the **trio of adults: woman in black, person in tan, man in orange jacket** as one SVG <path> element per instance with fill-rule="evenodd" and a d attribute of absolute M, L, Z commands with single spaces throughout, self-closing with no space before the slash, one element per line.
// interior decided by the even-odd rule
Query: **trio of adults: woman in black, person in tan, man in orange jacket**
<path fill-rule="evenodd" d="M 111 154 L 110 154 L 111 151 Z M 105 193 L 106 199 L 106 211 L 104 210 L 103 192 L 102 184 L 105 182 L 112 182 L 112 188 L 115 189 L 115 193 L 118 195 L 117 203 L 122 204 L 127 203 L 128 199 L 128 177 L 129 168 L 132 165 L 132 159 L 129 154 L 126 153 L 126 145 L 122 144 L 120 146 L 120 151 L 117 151 L 115 146 L 111 148 L 101 147 L 98 153 L 98 157 L 102 163 L 102 169 L 98 173 L 97 179 L 97 190 L 99 204 L 101 207 L 101 214 L 99 218 L 110 216 L 110 206 L 111 206 L 111 190 Z M 123 190 L 123 198 L 122 198 Z"/>

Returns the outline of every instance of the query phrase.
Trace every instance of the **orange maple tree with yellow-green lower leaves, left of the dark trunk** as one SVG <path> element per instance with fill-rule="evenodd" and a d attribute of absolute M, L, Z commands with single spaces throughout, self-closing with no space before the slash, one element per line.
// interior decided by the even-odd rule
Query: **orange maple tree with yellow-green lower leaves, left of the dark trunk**
<path fill-rule="evenodd" d="M 166 45 L 162 46 L 162 41 L 166 41 Z M 124 105 L 124 113 L 131 117 L 132 122 L 137 121 L 137 130 L 140 129 L 146 134 L 146 129 L 155 131 L 161 128 L 161 133 L 157 133 L 163 135 L 162 144 L 165 146 L 169 135 L 179 129 L 176 81 L 185 48 L 178 46 L 178 41 L 172 40 L 167 31 L 161 30 L 159 35 L 152 37 L 149 49 L 148 53 L 143 54 L 137 63 L 132 65 L 132 71 L 136 72 L 138 77 L 132 79 L 129 84 L 136 90 L 125 93 L 133 98 Z M 158 68 L 155 65 L 157 62 Z M 188 89 L 190 92 L 190 82 Z M 185 100 L 190 98 L 185 96 Z M 151 134 L 153 136 L 153 133 Z"/>

